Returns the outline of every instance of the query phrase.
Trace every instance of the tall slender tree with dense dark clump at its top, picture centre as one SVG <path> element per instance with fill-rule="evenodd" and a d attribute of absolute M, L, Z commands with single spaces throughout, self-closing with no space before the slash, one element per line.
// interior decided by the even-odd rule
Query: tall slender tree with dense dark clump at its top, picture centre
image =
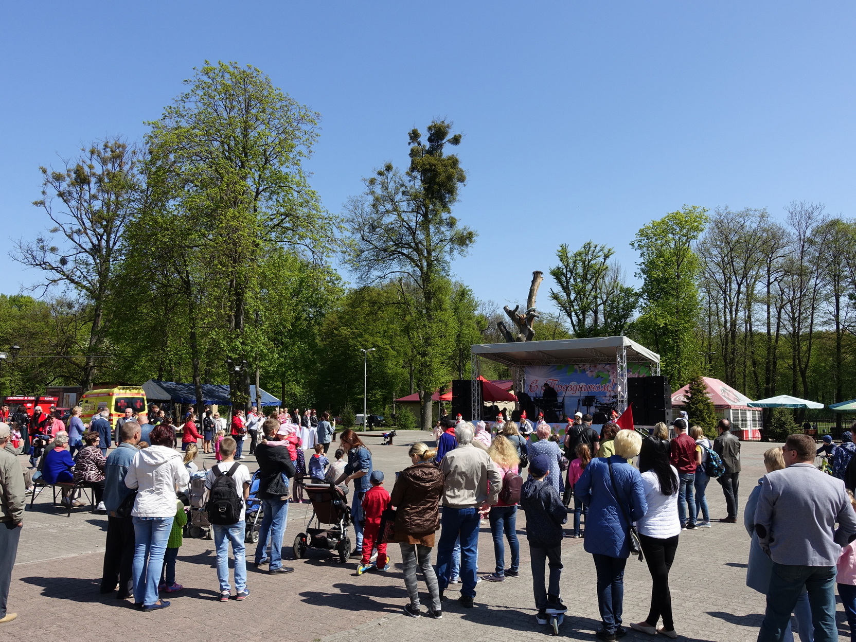
<path fill-rule="evenodd" d="M 455 315 L 449 265 L 476 236 L 452 216 L 467 175 L 458 157 L 444 151 L 461 143 L 461 134 L 450 133 L 451 123 L 444 121 L 431 122 L 427 140 L 413 129 L 407 171 L 386 163 L 347 208 L 353 240 L 349 261 L 357 276 L 362 282 L 395 280 L 424 430 L 431 430 L 431 395 L 451 375 Z"/>

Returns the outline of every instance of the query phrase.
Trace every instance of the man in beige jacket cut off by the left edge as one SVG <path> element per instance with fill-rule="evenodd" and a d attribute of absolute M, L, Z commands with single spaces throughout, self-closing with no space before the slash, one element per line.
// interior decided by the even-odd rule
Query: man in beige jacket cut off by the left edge
<path fill-rule="evenodd" d="M 21 526 L 24 526 L 24 475 L 15 455 L 6 444 L 12 437 L 8 424 L 0 424 L 0 624 L 15 620 L 15 613 L 6 612 L 12 568 L 18 554 Z"/>

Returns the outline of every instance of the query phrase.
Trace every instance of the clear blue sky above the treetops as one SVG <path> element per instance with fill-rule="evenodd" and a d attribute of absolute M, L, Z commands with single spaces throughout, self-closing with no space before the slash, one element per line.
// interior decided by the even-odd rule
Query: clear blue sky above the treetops
<path fill-rule="evenodd" d="M 205 59 L 250 63 L 322 114 L 308 163 L 330 211 L 446 117 L 479 231 L 455 274 L 526 296 L 556 248 L 627 243 L 683 204 L 819 201 L 853 216 L 853 3 L 7 3 L 0 241 L 47 227 L 41 164 L 140 138 Z M 0 292 L 39 275 L 0 253 Z M 547 307 L 547 288 L 540 303 Z"/>

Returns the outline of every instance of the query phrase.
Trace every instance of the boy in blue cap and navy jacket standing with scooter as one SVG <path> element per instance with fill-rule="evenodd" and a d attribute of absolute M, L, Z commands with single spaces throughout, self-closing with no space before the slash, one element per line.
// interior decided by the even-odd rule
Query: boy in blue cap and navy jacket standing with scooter
<path fill-rule="evenodd" d="M 552 461 L 556 464 L 556 460 Z M 559 597 L 562 577 L 562 524 L 568 521 L 568 509 L 558 491 L 547 481 L 550 456 L 538 455 L 529 461 L 529 477 L 520 490 L 520 507 L 526 512 L 526 539 L 532 564 L 532 587 L 538 624 L 546 624 L 549 615 L 562 615 L 568 608 Z M 550 560 L 550 588 L 544 589 L 544 566 Z"/>

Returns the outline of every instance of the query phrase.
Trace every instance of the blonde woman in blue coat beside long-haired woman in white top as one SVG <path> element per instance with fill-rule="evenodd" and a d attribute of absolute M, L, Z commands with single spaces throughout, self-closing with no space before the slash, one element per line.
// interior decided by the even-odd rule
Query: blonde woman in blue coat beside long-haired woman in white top
<path fill-rule="evenodd" d="M 630 523 L 639 520 L 648 510 L 642 477 L 636 468 L 627 463 L 627 460 L 639 455 L 641 445 L 642 437 L 636 431 L 618 431 L 615 435 L 615 455 L 591 460 L 574 486 L 574 495 L 589 510 L 585 549 L 594 557 L 597 606 L 603 622 L 603 628 L 595 636 L 606 642 L 613 642 L 616 633 L 625 633 L 624 627 L 621 627 L 621 611 L 624 603 L 624 566 L 630 556 Z M 612 479 L 615 479 L 615 485 Z"/>

